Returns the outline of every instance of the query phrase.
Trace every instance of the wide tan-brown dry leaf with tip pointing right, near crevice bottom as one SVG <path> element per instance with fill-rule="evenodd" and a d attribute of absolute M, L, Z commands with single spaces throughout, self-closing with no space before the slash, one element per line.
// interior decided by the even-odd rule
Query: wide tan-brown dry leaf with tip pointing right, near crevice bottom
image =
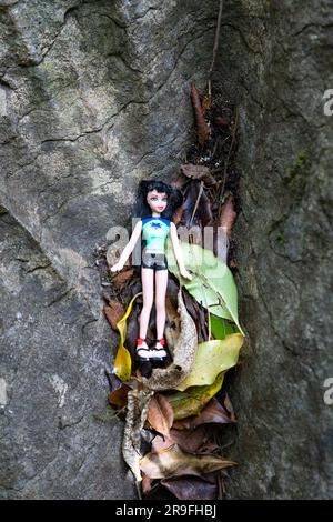
<path fill-rule="evenodd" d="M 155 453 L 148 453 L 140 460 L 140 469 L 150 479 L 169 479 L 171 476 L 198 475 L 211 473 L 238 465 L 222 456 L 193 455 L 185 453 L 178 444 Z"/>

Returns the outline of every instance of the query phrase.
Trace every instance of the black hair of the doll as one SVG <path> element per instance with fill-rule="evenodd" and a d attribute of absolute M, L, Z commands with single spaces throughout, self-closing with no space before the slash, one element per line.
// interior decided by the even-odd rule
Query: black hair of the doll
<path fill-rule="evenodd" d="M 137 202 L 134 205 L 134 217 L 142 219 L 151 217 L 151 208 L 147 202 L 147 194 L 152 190 L 155 190 L 159 193 L 164 192 L 168 195 L 168 204 L 165 210 L 161 213 L 161 217 L 172 221 L 175 211 L 183 204 L 183 194 L 179 189 L 172 187 L 171 184 L 158 180 L 140 181 Z"/>

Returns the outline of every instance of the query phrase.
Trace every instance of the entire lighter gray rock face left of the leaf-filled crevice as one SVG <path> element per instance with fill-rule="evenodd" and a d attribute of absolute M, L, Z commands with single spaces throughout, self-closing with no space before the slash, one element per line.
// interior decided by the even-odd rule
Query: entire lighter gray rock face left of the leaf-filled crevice
<path fill-rule="evenodd" d="M 2 498 L 129 499 L 95 244 L 169 179 L 214 0 L 0 1 Z"/>

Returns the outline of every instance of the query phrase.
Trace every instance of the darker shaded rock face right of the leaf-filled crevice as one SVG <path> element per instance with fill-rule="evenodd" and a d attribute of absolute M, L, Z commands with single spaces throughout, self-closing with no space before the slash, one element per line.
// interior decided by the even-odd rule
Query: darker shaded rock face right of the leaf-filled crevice
<path fill-rule="evenodd" d="M 228 2 L 219 82 L 240 101 L 234 229 L 248 339 L 228 495 L 333 498 L 332 1 Z M 332 98 L 332 93 L 331 93 Z M 331 104 L 332 110 L 332 104 Z M 332 384 L 331 384 L 332 388 Z M 332 398 L 332 393 L 331 393 Z"/>

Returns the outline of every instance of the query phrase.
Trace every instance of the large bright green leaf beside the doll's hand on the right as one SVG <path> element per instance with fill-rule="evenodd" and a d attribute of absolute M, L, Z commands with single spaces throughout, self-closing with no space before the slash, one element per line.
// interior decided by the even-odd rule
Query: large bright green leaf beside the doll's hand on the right
<path fill-rule="evenodd" d="M 180 245 L 185 267 L 192 272 L 193 279 L 189 281 L 180 275 L 169 240 L 167 257 L 170 272 L 181 280 L 181 283 L 202 307 L 219 318 L 234 321 L 239 331 L 244 335 L 239 323 L 238 290 L 231 270 L 211 250 L 182 241 L 180 241 Z"/>

